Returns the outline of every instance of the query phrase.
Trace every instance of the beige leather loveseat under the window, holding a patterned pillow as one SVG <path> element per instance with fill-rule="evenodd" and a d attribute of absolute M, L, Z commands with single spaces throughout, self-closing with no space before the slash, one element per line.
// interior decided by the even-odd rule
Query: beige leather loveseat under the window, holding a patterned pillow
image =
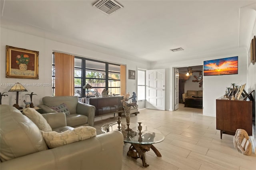
<path fill-rule="evenodd" d="M 67 125 L 70 127 L 93 126 L 95 107 L 85 103 L 78 102 L 77 96 L 46 96 L 42 98 L 43 104 L 38 105 L 41 108 L 40 113 L 57 112 L 50 107 L 65 103 L 70 111 L 66 116 Z"/>

